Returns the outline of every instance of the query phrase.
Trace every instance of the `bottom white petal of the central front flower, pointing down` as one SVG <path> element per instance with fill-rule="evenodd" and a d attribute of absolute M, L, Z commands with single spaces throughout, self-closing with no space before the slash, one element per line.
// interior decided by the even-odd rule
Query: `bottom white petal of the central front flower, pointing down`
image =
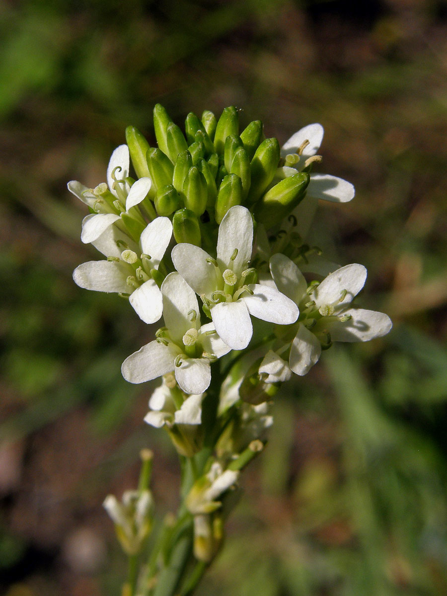
<path fill-rule="evenodd" d="M 243 300 L 221 302 L 213 306 L 211 316 L 216 331 L 232 350 L 243 350 L 252 339 L 253 326 Z"/>

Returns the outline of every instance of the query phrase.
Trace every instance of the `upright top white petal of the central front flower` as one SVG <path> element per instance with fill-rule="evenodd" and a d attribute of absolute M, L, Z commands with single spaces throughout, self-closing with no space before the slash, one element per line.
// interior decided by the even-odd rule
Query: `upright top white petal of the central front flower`
<path fill-rule="evenodd" d="M 237 256 L 230 260 L 237 249 Z M 246 207 L 231 207 L 222 219 L 218 235 L 218 263 L 222 273 L 231 268 L 236 274 L 247 268 L 252 259 L 253 220 Z"/>

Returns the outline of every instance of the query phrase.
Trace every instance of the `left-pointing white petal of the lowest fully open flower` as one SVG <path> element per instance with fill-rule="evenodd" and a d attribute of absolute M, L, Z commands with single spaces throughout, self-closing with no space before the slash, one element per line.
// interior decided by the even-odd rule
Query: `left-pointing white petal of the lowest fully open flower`
<path fill-rule="evenodd" d="M 170 346 L 150 342 L 134 352 L 122 364 L 121 372 L 129 383 L 144 383 L 174 370 L 175 354 Z"/>

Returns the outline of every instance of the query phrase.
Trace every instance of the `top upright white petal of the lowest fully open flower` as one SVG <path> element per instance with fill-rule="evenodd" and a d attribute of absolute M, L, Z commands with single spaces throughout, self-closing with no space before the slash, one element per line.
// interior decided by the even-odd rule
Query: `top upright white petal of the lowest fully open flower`
<path fill-rule="evenodd" d="M 197 297 L 176 271 L 164 278 L 161 290 L 163 294 L 164 323 L 169 329 L 172 339 L 175 342 L 181 342 L 182 337 L 189 329 L 198 329 L 200 327 Z M 196 313 L 195 321 L 191 320 L 193 318 L 191 311 Z"/>

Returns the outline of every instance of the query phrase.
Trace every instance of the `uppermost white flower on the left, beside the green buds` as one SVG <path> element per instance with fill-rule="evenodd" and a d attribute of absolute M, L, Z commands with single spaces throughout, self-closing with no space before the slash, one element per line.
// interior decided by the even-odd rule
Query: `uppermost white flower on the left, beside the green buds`
<path fill-rule="evenodd" d="M 152 186 L 150 178 L 139 178 L 132 186 L 129 181 L 129 147 L 119 145 L 108 162 L 107 184 L 103 182 L 96 188 L 87 188 L 76 180 L 67 184 L 70 193 L 96 212 L 82 221 L 83 243 L 97 240 L 108 226 L 120 221 L 122 213 L 147 197 Z"/>

